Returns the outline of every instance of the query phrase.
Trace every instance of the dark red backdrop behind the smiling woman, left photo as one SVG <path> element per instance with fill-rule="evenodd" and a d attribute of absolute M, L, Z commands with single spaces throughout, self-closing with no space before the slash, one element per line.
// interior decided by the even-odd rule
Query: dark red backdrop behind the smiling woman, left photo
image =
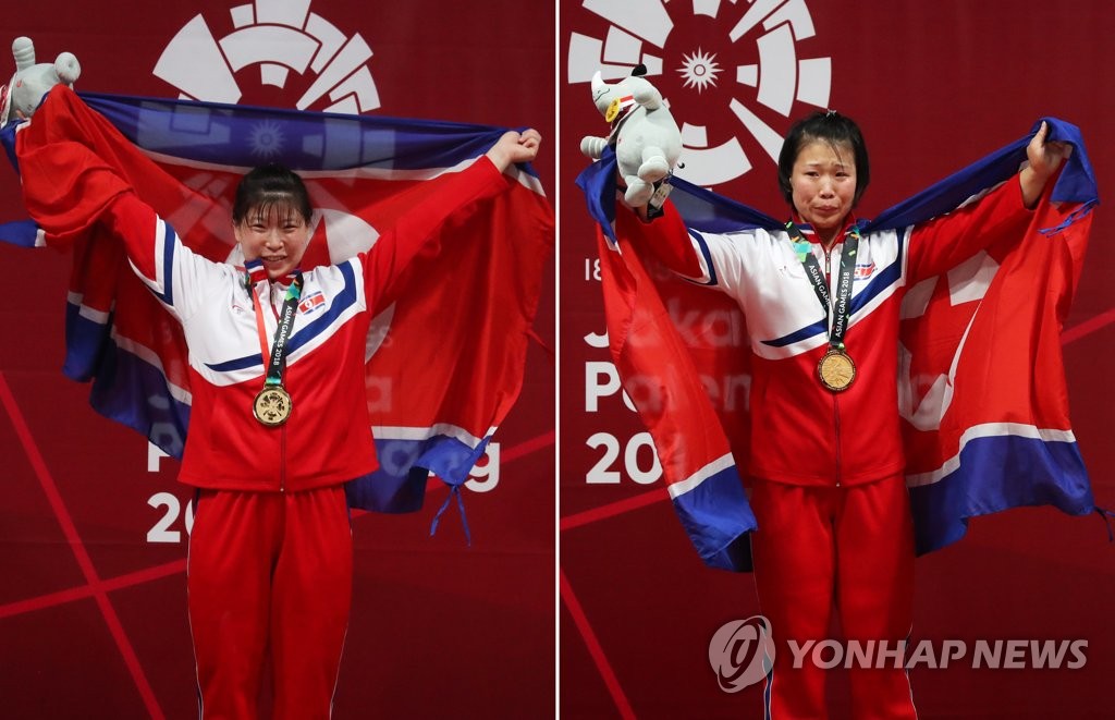
<path fill-rule="evenodd" d="M 371 55 L 351 69 L 370 74 L 371 85 L 363 75 L 355 80 L 366 111 L 539 128 L 546 143 L 536 167 L 552 194 L 552 8 L 524 16 L 506 0 L 254 6 L 260 22 L 308 8 L 318 25 L 306 26 L 303 40 L 326 37 L 323 23 L 355 45 L 362 38 Z M 172 39 L 200 22 L 221 39 L 234 29 L 232 13 L 250 8 L 231 0 L 22 3 L 0 22 L 0 45 L 27 35 L 39 61 L 74 52 L 83 64 L 78 89 L 177 97 L 219 77 L 210 62 L 224 60 Z M 274 64 L 297 65 L 293 47 L 273 48 Z M 161 78 L 154 70 L 164 52 L 169 70 Z M 0 59 L 0 68 L 7 78 L 14 62 Z M 280 89 L 262 84 L 252 61 L 235 82 L 242 103 L 293 107 L 322 75 L 291 70 Z M 2 172 L 0 218 L 19 214 L 16 176 Z M 196 717 L 184 573 L 191 493 L 175 481 L 176 463 L 94 413 L 88 388 L 61 376 L 67 262 L 51 251 L 0 247 L 9 299 L 0 308 L 0 714 Z M 440 487 L 418 515 L 355 518 L 353 615 L 334 717 L 552 712 L 553 318 L 551 281 L 523 395 L 495 438 L 498 457 L 466 492 L 473 546 L 455 510 L 426 537 L 446 495 Z"/>

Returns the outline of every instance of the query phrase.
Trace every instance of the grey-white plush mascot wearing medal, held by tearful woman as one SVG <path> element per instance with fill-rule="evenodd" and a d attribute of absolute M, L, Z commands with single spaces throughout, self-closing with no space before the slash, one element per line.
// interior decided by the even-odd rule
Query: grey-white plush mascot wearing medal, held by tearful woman
<path fill-rule="evenodd" d="M 639 66 L 631 77 L 614 85 L 604 82 L 600 72 L 592 76 L 592 101 L 611 126 L 608 137 L 585 136 L 581 152 L 599 159 L 608 145 L 615 146 L 620 176 L 627 183 L 624 202 L 640 207 L 655 194 L 655 183 L 663 179 L 678 164 L 681 133 L 662 94 L 646 78 Z"/>

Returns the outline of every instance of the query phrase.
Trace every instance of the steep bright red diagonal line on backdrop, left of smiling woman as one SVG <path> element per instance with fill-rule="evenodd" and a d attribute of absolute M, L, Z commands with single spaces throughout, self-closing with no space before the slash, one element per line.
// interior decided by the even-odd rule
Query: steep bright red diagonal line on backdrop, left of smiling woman
<path fill-rule="evenodd" d="M 70 549 L 74 552 L 78 567 L 81 568 L 81 574 L 85 576 L 85 581 L 89 585 L 90 593 L 96 600 L 97 606 L 100 609 L 100 614 L 105 617 L 108 631 L 112 634 L 113 640 L 116 641 L 116 646 L 119 649 L 120 654 L 124 656 L 124 664 L 127 665 L 128 671 L 132 673 L 132 679 L 135 681 L 136 689 L 139 691 L 139 695 L 143 698 L 144 704 L 147 707 L 147 712 L 152 718 L 158 718 L 162 720 L 164 716 L 162 709 L 158 707 L 158 700 L 155 698 L 155 692 L 152 690 L 151 683 L 147 682 L 147 677 L 144 674 L 143 668 L 139 665 L 139 659 L 136 656 L 135 649 L 132 648 L 132 642 L 128 640 L 127 633 L 124 632 L 124 626 L 120 624 L 120 619 L 117 616 L 116 610 L 113 607 L 112 603 L 108 602 L 108 595 L 106 594 L 106 590 L 101 584 L 100 578 L 97 576 L 96 568 L 93 566 L 93 560 L 89 557 L 89 553 L 86 551 L 85 544 L 81 542 L 81 536 L 78 534 L 77 527 L 74 525 L 74 519 L 70 517 L 69 510 L 66 509 L 66 503 L 62 500 L 61 494 L 58 492 L 58 486 L 55 485 L 54 478 L 50 476 L 50 470 L 47 469 L 46 460 L 42 459 L 42 455 L 39 453 L 35 438 L 31 436 L 31 430 L 27 427 L 23 413 L 20 412 L 19 406 L 16 405 L 16 397 L 11 393 L 11 388 L 8 387 L 8 380 L 3 372 L 0 372 L 0 403 L 2 403 L 4 409 L 8 411 L 8 417 L 11 419 L 12 427 L 16 429 L 16 435 L 19 438 L 20 444 L 23 446 L 27 459 L 30 461 L 31 467 L 35 470 L 39 485 L 42 486 L 42 492 L 47 496 L 47 502 L 50 504 L 50 508 L 54 510 L 55 517 L 61 526 L 62 534 L 66 536 L 66 541 L 69 543 Z"/>

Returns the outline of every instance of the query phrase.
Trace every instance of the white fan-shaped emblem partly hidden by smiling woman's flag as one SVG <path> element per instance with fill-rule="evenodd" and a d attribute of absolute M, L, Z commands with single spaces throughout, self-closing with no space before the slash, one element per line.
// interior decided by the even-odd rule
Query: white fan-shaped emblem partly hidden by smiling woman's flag
<path fill-rule="evenodd" d="M 215 38 L 201 14 L 171 40 L 155 65 L 156 77 L 176 87 L 183 99 L 235 105 L 244 90 L 237 74 L 254 69 L 260 86 L 289 89 L 292 71 L 304 79 L 294 106 L 359 115 L 379 107 L 379 93 L 367 61 L 371 48 L 360 33 L 348 37 L 310 11 L 309 0 L 255 0 L 229 10 L 233 30 Z M 272 146 L 259 130 L 254 148 Z M 266 138 L 281 142 L 281 136 Z M 272 150 L 273 152 L 273 150 Z"/>

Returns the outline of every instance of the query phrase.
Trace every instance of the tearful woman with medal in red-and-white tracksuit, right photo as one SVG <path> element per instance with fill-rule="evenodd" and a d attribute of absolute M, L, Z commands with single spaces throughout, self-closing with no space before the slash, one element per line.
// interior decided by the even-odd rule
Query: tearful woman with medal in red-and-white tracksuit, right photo
<path fill-rule="evenodd" d="M 905 230 L 861 233 L 870 181 L 859 126 L 815 113 L 788 132 L 783 228 L 688 228 L 672 203 L 618 232 L 743 310 L 752 342 L 750 555 L 776 644 L 766 717 L 824 718 L 824 671 L 789 650 L 828 635 L 899 648 L 913 615 L 914 533 L 899 422 L 900 303 L 920 280 L 1025 233 L 1068 146 L 1043 124 L 1016 179 Z M 1016 165 L 1017 167 L 1017 165 Z M 856 718 L 917 717 L 901 656 L 852 668 Z"/>

